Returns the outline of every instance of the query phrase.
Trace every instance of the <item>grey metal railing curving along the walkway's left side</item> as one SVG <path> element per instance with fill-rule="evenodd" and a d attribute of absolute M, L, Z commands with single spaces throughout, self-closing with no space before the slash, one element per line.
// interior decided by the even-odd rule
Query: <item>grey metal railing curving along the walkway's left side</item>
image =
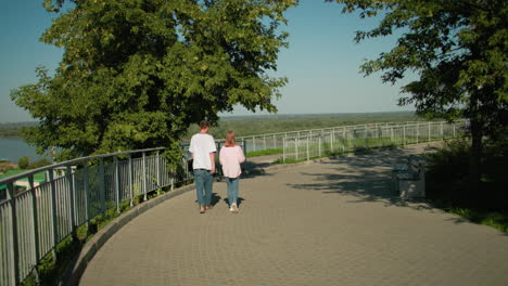
<path fill-rule="evenodd" d="M 38 168 L 0 180 L 7 197 L 0 200 L 0 285 L 17 285 L 59 243 L 80 225 L 120 211 L 122 203 L 177 183 L 161 156 L 164 148 L 149 148 L 90 156 Z M 90 165 L 90 166 L 89 166 Z M 189 180 L 186 171 L 180 179 Z M 34 176 L 47 180 L 35 185 Z M 15 182 L 28 179 L 29 187 Z M 0 198 L 1 199 L 1 198 Z"/>

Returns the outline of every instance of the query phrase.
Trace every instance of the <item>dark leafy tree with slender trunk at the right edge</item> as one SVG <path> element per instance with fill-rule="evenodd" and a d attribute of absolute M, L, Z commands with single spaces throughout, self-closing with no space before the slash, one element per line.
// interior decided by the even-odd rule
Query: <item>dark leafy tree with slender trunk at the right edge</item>
<path fill-rule="evenodd" d="M 331 2 L 332 0 L 327 0 Z M 336 0 L 343 13 L 381 14 L 379 26 L 357 31 L 355 41 L 402 31 L 396 46 L 360 67 L 365 75 L 384 72 L 394 83 L 407 73 L 419 78 L 404 86 L 408 96 L 430 118 L 469 119 L 470 178 L 478 190 L 482 138 L 507 130 L 508 2 L 503 0 Z"/>

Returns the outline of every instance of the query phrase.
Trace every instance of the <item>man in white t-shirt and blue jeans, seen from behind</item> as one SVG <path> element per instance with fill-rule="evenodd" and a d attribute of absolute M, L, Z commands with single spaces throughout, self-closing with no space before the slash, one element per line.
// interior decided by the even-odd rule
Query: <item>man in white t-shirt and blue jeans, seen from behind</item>
<path fill-rule="evenodd" d="M 189 146 L 201 213 L 212 208 L 212 183 L 215 173 L 215 152 L 217 152 L 214 138 L 207 133 L 208 128 L 207 121 L 201 121 L 200 132 L 192 135 Z"/>

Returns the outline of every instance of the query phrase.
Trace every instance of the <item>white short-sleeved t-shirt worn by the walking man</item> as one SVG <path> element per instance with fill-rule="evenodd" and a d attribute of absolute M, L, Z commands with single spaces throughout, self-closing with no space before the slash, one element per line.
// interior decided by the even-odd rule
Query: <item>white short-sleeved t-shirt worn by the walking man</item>
<path fill-rule="evenodd" d="M 214 138 L 211 134 L 192 135 L 189 152 L 193 155 L 192 169 L 212 170 L 209 153 L 217 152 Z"/>

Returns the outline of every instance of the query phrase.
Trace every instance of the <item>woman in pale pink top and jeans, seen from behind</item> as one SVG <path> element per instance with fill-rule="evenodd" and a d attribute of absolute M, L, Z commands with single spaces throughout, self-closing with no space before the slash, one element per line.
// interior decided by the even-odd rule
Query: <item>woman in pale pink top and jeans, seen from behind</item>
<path fill-rule="evenodd" d="M 226 144 L 220 148 L 219 160 L 228 185 L 229 210 L 238 213 L 238 181 L 242 172 L 240 162 L 245 160 L 245 156 L 242 148 L 237 145 L 233 131 L 228 131 L 226 134 Z"/>

